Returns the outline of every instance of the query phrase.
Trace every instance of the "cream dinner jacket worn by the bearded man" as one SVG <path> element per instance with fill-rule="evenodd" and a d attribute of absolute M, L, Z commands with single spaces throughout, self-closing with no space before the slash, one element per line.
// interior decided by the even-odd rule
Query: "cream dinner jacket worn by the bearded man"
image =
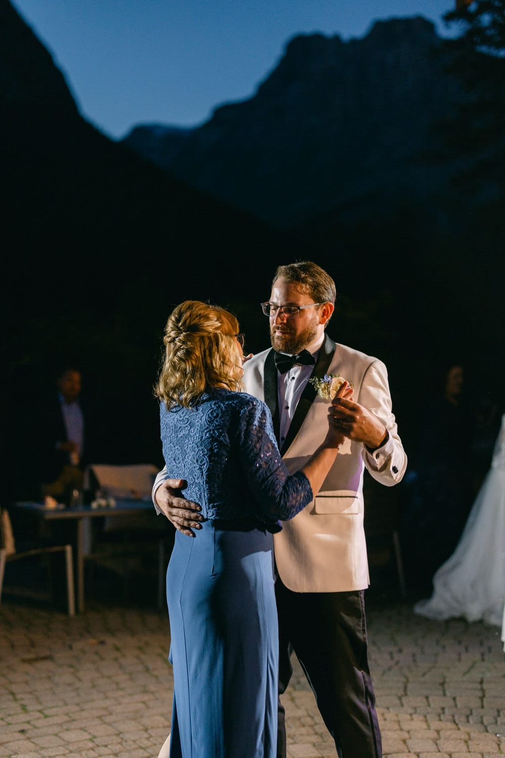
<path fill-rule="evenodd" d="M 363 470 L 366 466 L 374 479 L 391 487 L 401 481 L 407 468 L 407 456 L 391 410 L 385 365 L 363 352 L 335 345 L 326 335 L 312 375 L 324 374 L 340 374 L 352 382 L 354 400 L 382 421 L 389 439 L 374 453 L 369 453 L 362 443 L 345 440 L 312 503 L 295 518 L 283 522 L 282 531 L 273 535 L 279 576 L 295 592 L 344 592 L 368 587 Z M 271 348 L 245 363 L 244 380 L 248 393 L 267 402 L 279 434 L 277 371 Z M 281 450 L 290 472 L 298 471 L 323 442 L 327 414 L 328 401 L 307 384 Z M 157 475 L 153 493 L 166 477 L 164 468 Z"/>

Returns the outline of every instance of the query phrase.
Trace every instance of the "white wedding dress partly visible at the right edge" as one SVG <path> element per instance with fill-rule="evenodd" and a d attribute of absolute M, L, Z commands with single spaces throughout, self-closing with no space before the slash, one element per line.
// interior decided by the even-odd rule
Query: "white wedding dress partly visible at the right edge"
<path fill-rule="evenodd" d="M 433 577 L 433 594 L 414 612 L 501 627 L 505 643 L 505 414 L 489 469 L 456 550 Z M 503 645 L 505 650 L 505 644 Z"/>

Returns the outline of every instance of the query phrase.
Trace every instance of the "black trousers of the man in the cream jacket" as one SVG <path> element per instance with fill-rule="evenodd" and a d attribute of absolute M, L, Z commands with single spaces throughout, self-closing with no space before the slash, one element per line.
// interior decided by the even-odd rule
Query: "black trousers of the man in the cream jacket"
<path fill-rule="evenodd" d="M 293 650 L 316 697 L 339 758 L 382 758 L 376 697 L 368 665 L 363 590 L 300 593 L 276 579 L 279 695 L 293 673 Z M 277 758 L 286 756 L 279 698 Z"/>

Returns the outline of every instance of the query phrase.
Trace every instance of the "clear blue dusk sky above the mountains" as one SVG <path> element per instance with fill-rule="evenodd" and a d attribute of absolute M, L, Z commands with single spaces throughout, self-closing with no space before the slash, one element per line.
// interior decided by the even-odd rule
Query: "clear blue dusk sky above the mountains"
<path fill-rule="evenodd" d="M 113 139 L 136 124 L 193 126 L 247 99 L 298 33 L 361 37 L 374 20 L 441 17 L 454 0 L 11 0 Z"/>

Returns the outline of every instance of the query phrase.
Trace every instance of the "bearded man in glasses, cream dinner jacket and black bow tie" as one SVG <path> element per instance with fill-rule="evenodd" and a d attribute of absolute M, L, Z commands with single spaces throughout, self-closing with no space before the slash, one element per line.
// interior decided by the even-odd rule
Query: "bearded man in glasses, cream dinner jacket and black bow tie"
<path fill-rule="evenodd" d="M 325 333 L 335 303 L 332 277 L 313 262 L 279 266 L 270 300 L 272 348 L 244 365 L 248 393 L 267 402 L 290 472 L 322 443 L 328 399 L 310 378 L 339 375 L 354 385 L 339 416 L 347 439 L 319 493 L 274 534 L 279 614 L 279 694 L 291 678 L 291 652 L 304 669 L 340 758 L 381 758 L 382 744 L 369 672 L 363 590 L 369 573 L 363 529 L 363 472 L 392 486 L 407 456 L 397 434 L 385 365 Z M 153 500 L 183 534 L 198 530 L 195 503 L 182 481 L 157 475 Z M 278 758 L 285 758 L 285 718 L 279 700 Z"/>

